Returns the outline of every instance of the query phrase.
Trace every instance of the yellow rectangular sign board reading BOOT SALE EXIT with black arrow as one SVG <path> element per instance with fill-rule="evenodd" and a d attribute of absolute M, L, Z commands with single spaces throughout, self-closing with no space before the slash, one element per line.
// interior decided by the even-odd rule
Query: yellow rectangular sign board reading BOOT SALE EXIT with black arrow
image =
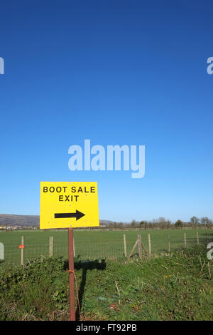
<path fill-rule="evenodd" d="M 97 226 L 97 182 L 40 182 L 40 229 Z"/>

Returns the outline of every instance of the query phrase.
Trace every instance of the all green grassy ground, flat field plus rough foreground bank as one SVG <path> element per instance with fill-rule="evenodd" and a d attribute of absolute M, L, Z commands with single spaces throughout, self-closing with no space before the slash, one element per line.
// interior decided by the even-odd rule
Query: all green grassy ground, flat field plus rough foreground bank
<path fill-rule="evenodd" d="M 127 254 L 138 234 L 148 249 L 150 234 L 154 257 L 138 259 L 135 253 L 126 259 L 123 234 Z M 21 263 L 21 236 L 25 267 L 14 266 Z M 213 261 L 207 259 L 207 243 L 213 230 L 75 230 L 74 239 L 77 319 L 212 320 Z M 68 320 L 67 231 L 0 232 L 0 242 L 6 256 L 0 263 L 0 320 Z"/>

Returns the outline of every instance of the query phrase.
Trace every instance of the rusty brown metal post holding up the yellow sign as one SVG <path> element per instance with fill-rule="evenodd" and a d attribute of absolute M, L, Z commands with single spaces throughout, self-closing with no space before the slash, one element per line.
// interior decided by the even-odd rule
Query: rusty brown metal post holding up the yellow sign
<path fill-rule="evenodd" d="M 68 228 L 68 252 L 69 252 L 69 282 L 70 282 L 70 321 L 75 321 L 75 277 L 74 277 L 74 252 L 73 252 L 72 228 Z"/>

